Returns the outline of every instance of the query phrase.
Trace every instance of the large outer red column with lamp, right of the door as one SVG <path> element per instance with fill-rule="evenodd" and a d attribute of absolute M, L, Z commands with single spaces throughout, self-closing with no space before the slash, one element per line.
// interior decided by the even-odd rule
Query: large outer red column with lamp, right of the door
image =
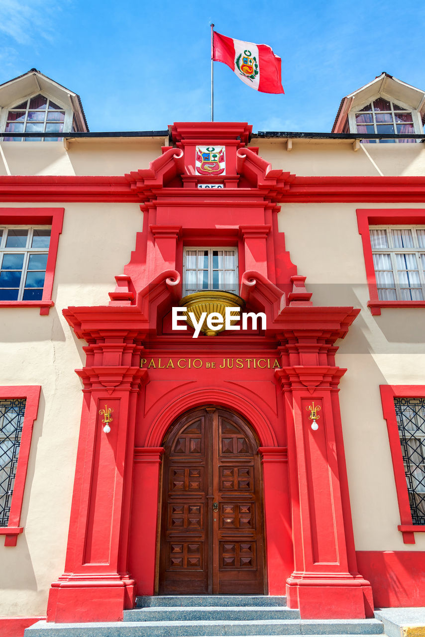
<path fill-rule="evenodd" d="M 276 372 L 285 394 L 294 538 L 287 599 L 304 619 L 360 618 L 373 608 L 370 583 L 353 564 L 352 525 L 338 467 L 343 448 L 335 392 L 345 371 L 292 366 Z M 318 408 L 316 430 L 313 407 Z"/>

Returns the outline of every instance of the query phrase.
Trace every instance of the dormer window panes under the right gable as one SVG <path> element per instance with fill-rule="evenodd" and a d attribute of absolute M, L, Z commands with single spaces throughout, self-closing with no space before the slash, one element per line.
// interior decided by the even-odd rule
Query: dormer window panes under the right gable
<path fill-rule="evenodd" d="M 374 101 L 363 106 L 354 113 L 356 117 L 356 132 L 371 134 L 407 134 L 414 133 L 415 127 L 412 118 L 412 111 L 390 102 L 383 97 L 378 97 Z M 416 140 L 362 140 L 363 143 L 415 143 Z"/>

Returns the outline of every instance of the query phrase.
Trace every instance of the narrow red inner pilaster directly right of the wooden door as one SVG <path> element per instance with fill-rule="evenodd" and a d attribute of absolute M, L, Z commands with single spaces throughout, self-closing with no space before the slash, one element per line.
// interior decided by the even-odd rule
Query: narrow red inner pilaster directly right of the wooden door
<path fill-rule="evenodd" d="M 259 447 L 263 459 L 268 593 L 284 595 L 294 568 L 286 447 Z"/>

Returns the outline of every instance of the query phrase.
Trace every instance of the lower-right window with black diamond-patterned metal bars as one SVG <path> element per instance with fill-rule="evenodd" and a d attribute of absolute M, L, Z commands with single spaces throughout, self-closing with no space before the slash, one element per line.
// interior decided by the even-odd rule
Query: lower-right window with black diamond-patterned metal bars
<path fill-rule="evenodd" d="M 425 524 L 425 398 L 394 398 L 413 524 Z"/>

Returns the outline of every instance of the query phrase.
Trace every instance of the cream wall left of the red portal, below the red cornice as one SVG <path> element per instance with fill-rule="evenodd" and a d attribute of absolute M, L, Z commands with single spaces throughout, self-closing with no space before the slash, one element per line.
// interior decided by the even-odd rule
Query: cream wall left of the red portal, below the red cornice
<path fill-rule="evenodd" d="M 0 204 L 0 206 L 21 204 Z M 25 206 L 52 207 L 28 203 Z M 53 289 L 54 308 L 3 308 L 0 385 L 41 385 L 16 547 L 0 536 L 0 616 L 45 615 L 48 589 L 64 569 L 85 356 L 62 315 L 72 305 L 106 305 L 114 276 L 130 259 L 141 229 L 138 204 L 64 205 Z"/>

